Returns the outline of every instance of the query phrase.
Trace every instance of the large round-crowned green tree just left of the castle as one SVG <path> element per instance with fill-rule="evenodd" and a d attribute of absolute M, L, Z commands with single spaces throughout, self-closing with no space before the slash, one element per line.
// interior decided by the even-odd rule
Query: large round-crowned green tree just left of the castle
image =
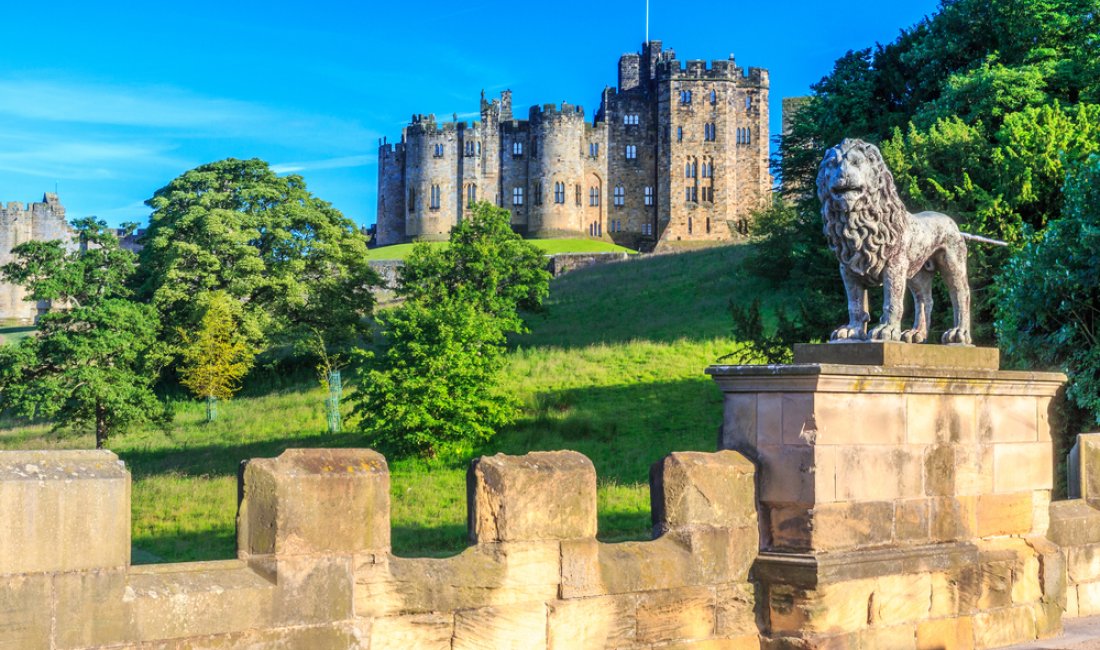
<path fill-rule="evenodd" d="M 158 189 L 141 252 L 141 296 L 161 313 L 169 343 L 202 317 L 194 297 L 224 291 L 257 348 L 308 352 L 314 331 L 329 344 L 367 332 L 377 283 L 366 240 L 300 176 L 260 159 L 202 165 Z"/>

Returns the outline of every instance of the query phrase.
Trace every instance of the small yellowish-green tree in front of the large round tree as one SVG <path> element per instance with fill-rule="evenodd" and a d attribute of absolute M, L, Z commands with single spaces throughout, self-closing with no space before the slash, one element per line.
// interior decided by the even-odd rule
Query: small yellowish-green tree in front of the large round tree
<path fill-rule="evenodd" d="M 229 399 L 241 388 L 252 368 L 255 349 L 241 333 L 237 312 L 240 305 L 215 291 L 205 296 L 202 320 L 194 334 L 180 332 L 183 354 L 180 383 L 207 401 L 207 421 L 217 417 L 219 399 Z"/>

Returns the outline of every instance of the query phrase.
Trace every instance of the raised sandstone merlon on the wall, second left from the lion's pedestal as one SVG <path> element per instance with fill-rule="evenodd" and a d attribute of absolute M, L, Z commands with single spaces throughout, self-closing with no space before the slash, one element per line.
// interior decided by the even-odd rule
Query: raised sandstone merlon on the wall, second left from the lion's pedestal
<path fill-rule="evenodd" d="M 468 482 L 470 533 L 479 542 L 596 536 L 596 470 L 582 454 L 483 456 Z"/>

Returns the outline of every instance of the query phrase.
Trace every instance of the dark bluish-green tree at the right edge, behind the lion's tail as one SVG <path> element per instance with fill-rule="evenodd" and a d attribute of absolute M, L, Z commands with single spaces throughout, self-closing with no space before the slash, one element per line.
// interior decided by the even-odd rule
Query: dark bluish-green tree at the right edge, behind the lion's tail
<path fill-rule="evenodd" d="M 1065 192 L 1063 216 L 999 278 L 997 331 L 1018 361 L 1064 370 L 1069 399 L 1100 423 L 1100 157 Z"/>

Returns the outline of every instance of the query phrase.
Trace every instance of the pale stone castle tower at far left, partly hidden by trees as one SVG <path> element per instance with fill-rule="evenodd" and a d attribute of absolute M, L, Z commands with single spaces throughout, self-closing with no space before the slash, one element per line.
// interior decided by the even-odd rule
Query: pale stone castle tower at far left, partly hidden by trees
<path fill-rule="evenodd" d="M 32 240 L 73 240 L 73 231 L 65 221 L 65 208 L 57 195 L 46 194 L 37 203 L 10 202 L 0 207 L 0 265 L 12 262 L 13 247 Z M 25 297 L 22 287 L 0 283 L 0 320 L 34 322 L 50 310 L 47 301 L 33 302 L 24 300 Z"/>

